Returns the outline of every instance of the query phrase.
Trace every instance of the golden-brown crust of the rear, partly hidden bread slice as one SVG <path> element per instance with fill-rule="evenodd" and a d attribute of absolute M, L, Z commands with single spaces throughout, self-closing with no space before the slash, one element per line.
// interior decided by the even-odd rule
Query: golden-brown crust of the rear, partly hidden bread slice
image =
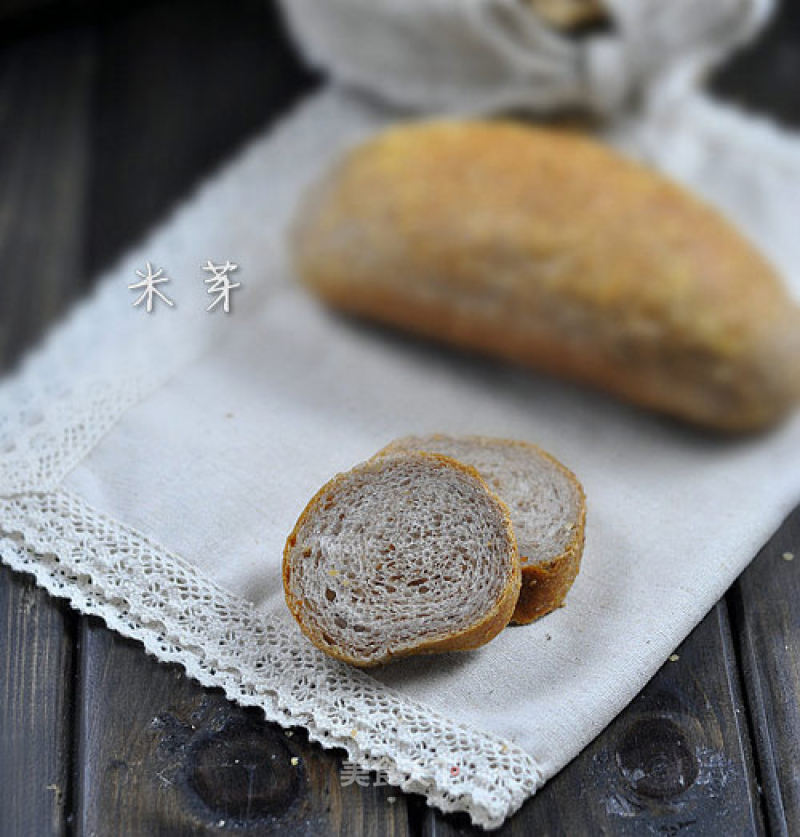
<path fill-rule="evenodd" d="M 437 438 L 446 439 L 447 435 L 433 433 L 426 436 L 426 438 L 435 441 Z M 526 625 L 536 619 L 540 619 L 557 607 L 561 607 L 578 575 L 586 537 L 586 494 L 580 481 L 569 468 L 559 462 L 552 454 L 540 448 L 538 445 L 534 445 L 532 442 L 525 442 L 519 439 L 496 439 L 488 436 L 471 436 L 470 439 L 479 443 L 512 445 L 533 450 L 558 468 L 569 480 L 580 497 L 578 520 L 575 522 L 569 542 L 561 554 L 554 556 L 549 561 L 529 563 L 530 556 L 520 551 L 519 560 L 522 570 L 522 584 L 511 622 L 515 625 Z M 381 448 L 375 454 L 375 458 L 393 455 L 397 449 L 395 446 L 399 442 L 402 442 L 402 440 L 389 442 L 388 445 Z M 500 499 L 502 500 L 503 498 L 501 497 Z M 519 543 L 518 546 L 520 546 Z"/>

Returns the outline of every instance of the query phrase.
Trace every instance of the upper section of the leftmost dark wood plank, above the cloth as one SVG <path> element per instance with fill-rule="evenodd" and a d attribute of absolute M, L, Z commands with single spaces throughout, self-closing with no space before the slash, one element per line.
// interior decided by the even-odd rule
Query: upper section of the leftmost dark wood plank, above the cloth
<path fill-rule="evenodd" d="M 91 31 L 0 51 L 0 368 L 33 345 L 85 284 Z"/>

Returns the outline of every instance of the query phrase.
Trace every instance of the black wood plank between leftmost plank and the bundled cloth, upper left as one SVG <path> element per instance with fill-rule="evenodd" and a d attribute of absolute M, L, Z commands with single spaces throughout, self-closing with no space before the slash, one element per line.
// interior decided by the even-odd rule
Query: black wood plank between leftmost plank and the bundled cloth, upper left
<path fill-rule="evenodd" d="M 315 83 L 265 0 L 137 5 L 98 42 L 92 271 Z"/>

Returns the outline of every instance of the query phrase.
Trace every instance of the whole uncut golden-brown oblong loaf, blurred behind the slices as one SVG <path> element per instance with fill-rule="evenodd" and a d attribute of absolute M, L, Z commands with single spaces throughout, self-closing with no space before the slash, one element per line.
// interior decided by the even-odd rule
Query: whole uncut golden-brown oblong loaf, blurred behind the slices
<path fill-rule="evenodd" d="M 729 431 L 800 391 L 800 313 L 716 211 L 591 139 L 418 122 L 302 203 L 302 280 L 331 305 Z"/>

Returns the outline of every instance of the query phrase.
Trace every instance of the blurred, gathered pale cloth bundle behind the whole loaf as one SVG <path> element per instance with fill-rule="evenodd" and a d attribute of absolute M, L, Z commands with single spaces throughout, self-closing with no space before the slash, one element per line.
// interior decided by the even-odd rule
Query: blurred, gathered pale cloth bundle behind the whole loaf
<path fill-rule="evenodd" d="M 337 82 L 419 113 L 609 116 L 660 79 L 696 84 L 772 0 L 608 0 L 600 31 L 558 31 L 524 0 L 283 0 L 300 50 Z"/>

